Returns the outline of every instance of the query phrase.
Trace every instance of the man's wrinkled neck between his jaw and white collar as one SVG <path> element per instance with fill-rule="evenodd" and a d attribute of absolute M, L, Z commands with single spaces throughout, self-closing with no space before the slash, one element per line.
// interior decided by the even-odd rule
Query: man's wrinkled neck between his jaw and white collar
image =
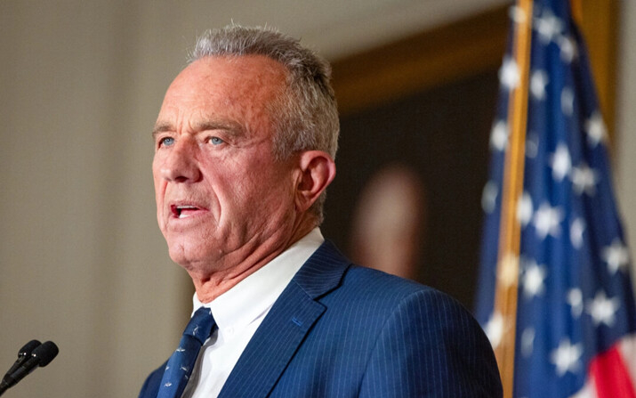
<path fill-rule="evenodd" d="M 269 240 L 256 248 L 246 248 L 245 253 L 240 250 L 224 259 L 229 265 L 213 267 L 215 271 L 205 271 L 205 267 L 189 268 L 188 273 L 197 291 L 201 303 L 209 303 L 218 296 L 233 288 L 241 280 L 246 279 L 271 260 L 283 253 L 287 248 L 301 240 L 314 227 L 314 219 L 305 219 L 293 231 L 286 234 L 272 235 Z"/>

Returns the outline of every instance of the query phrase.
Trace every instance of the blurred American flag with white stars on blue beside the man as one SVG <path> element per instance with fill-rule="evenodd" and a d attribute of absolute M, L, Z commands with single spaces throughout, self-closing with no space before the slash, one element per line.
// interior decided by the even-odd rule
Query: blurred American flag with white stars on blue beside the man
<path fill-rule="evenodd" d="M 476 315 L 495 352 L 513 334 L 508 396 L 636 397 L 632 267 L 584 41 L 568 0 L 537 0 L 529 14 L 516 5 L 510 15 L 511 32 L 522 21 L 529 23 L 529 67 L 515 59 L 511 36 L 499 72 L 490 175 L 482 197 L 486 215 Z M 504 165 L 513 134 L 509 100 L 523 73 L 523 183 L 512 201 L 519 253 L 502 254 Z M 495 305 L 502 284 L 517 288 L 516 321 Z"/>

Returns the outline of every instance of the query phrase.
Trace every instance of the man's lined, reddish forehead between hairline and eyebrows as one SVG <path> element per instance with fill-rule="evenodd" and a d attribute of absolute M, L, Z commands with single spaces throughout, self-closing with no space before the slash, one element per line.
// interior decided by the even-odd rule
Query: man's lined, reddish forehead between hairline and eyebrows
<path fill-rule="evenodd" d="M 261 58 L 266 63 L 254 68 L 254 61 Z M 222 61 L 234 61 L 233 68 L 217 73 L 217 61 L 221 61 L 221 67 Z M 285 92 L 286 77 L 282 65 L 263 56 L 197 60 L 168 88 L 153 136 L 165 132 L 197 134 L 206 130 L 252 135 L 262 129 L 270 130 L 275 116 L 270 114 L 267 104 L 275 101 L 281 91 Z M 247 84 L 246 80 L 251 82 Z M 221 107 L 227 115 L 215 115 L 215 107 Z"/>

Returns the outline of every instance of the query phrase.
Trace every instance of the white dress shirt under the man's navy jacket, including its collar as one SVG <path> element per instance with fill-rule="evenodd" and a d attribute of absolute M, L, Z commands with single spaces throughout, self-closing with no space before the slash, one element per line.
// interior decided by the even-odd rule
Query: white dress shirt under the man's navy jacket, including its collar
<path fill-rule="evenodd" d="M 323 241 L 320 230 L 315 228 L 212 302 L 202 304 L 195 293 L 192 313 L 201 306 L 210 308 L 218 329 L 201 348 L 182 398 L 215 398 L 219 395 L 229 373 L 278 296 Z"/>

